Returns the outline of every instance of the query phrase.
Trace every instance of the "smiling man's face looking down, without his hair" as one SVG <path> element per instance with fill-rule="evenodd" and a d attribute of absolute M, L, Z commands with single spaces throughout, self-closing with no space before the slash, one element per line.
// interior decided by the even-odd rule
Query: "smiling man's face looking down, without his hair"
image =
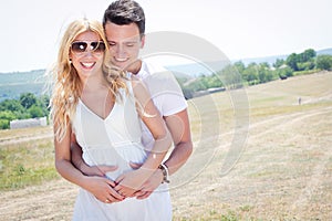
<path fill-rule="evenodd" d="M 105 33 L 110 44 L 111 62 L 126 71 L 135 69 L 139 49 L 144 45 L 138 27 L 135 23 L 117 25 L 112 22 L 105 24 Z"/>

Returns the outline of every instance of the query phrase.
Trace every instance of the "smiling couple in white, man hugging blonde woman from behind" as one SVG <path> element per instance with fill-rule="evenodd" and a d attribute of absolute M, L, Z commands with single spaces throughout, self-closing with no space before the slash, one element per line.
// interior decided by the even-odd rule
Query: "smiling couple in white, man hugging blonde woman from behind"
<path fill-rule="evenodd" d="M 172 220 L 168 175 L 193 150 L 187 104 L 138 60 L 144 31 L 139 4 L 118 0 L 103 25 L 76 20 L 62 39 L 51 114 L 56 170 L 82 188 L 73 220 Z"/>

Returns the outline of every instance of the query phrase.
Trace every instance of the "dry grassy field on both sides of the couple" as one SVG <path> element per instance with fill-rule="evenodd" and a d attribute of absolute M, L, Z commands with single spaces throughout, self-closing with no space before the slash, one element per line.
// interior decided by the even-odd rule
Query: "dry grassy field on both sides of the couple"
<path fill-rule="evenodd" d="M 331 85 L 324 72 L 189 101 L 174 220 L 331 220 Z M 0 130 L 1 219 L 70 220 L 77 188 L 53 154 L 50 127 Z"/>

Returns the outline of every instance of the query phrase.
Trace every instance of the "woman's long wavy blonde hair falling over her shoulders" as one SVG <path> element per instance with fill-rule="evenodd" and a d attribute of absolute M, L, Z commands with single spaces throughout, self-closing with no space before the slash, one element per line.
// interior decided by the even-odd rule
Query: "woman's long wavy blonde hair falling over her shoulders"
<path fill-rule="evenodd" d="M 79 98 L 83 91 L 77 72 L 70 61 L 70 50 L 75 38 L 86 31 L 95 32 L 105 44 L 103 73 L 105 81 L 108 83 L 111 94 L 117 97 L 120 88 L 127 91 L 124 81 L 125 73 L 112 66 L 108 62 L 111 61 L 108 43 L 101 22 L 87 19 L 71 22 L 61 40 L 56 63 L 50 70 L 51 75 L 53 75 L 53 92 L 50 102 L 51 118 L 55 125 L 54 136 L 59 141 L 63 139 L 71 119 L 73 119 Z"/>

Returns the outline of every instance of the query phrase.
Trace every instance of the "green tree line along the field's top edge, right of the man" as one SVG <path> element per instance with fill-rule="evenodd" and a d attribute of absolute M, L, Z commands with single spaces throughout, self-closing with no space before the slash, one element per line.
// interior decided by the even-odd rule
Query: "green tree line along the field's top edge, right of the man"
<path fill-rule="evenodd" d="M 313 49 L 308 49 L 299 54 L 292 53 L 286 60 L 277 59 L 272 65 L 263 62 L 250 63 L 246 66 L 243 62 L 238 61 L 211 75 L 201 74 L 194 81 L 184 76 L 177 77 L 177 80 L 185 97 L 193 98 L 199 92 L 216 87 L 232 90 L 278 78 L 286 80 L 294 75 L 310 74 L 321 70 L 332 70 L 332 55 L 317 55 Z"/>

